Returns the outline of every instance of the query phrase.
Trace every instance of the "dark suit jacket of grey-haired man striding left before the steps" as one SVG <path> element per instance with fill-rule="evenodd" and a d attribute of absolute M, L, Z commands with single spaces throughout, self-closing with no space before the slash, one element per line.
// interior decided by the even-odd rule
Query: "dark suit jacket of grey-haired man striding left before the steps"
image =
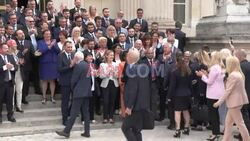
<path fill-rule="evenodd" d="M 76 64 L 71 78 L 71 88 L 73 90 L 73 98 L 91 97 L 91 77 L 88 74 L 88 64 L 81 61 Z"/>

